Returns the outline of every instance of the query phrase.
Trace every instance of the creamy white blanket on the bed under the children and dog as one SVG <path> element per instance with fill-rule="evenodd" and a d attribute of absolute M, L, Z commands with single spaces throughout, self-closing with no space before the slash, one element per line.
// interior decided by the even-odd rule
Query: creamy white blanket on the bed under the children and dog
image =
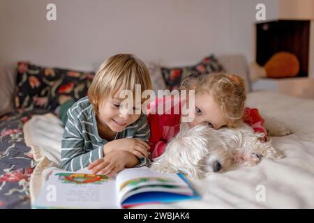
<path fill-rule="evenodd" d="M 293 134 L 271 137 L 285 154 L 263 159 L 256 167 L 241 167 L 202 180 L 189 179 L 200 201 L 151 204 L 137 208 L 314 208 L 314 101 L 268 92 L 248 95 L 247 105 L 283 121 Z M 33 116 L 24 126 L 27 145 L 39 161 L 31 177 L 31 200 L 47 174 L 59 167 L 61 122 L 52 115 Z"/>

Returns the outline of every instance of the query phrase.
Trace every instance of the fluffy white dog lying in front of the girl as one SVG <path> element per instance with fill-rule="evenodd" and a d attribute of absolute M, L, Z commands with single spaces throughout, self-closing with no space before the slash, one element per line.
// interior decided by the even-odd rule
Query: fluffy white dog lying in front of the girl
<path fill-rule="evenodd" d="M 209 173 L 226 171 L 235 164 L 253 166 L 262 157 L 278 159 L 283 155 L 264 134 L 255 133 L 243 123 L 239 128 L 214 130 L 207 125 L 189 128 L 181 123 L 180 132 L 169 141 L 165 152 L 154 159 L 151 169 L 162 172 L 180 171 L 187 176 L 202 178 Z"/>

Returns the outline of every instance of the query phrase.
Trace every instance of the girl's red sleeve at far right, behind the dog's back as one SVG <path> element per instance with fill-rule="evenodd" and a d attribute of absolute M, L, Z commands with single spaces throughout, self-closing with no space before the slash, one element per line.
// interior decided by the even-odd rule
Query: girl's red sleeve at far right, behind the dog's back
<path fill-rule="evenodd" d="M 264 128 L 264 118 L 260 116 L 257 109 L 251 109 L 246 107 L 244 110 L 243 121 L 253 128 L 254 132 L 264 133 L 264 139 L 267 141 L 267 130 Z"/>

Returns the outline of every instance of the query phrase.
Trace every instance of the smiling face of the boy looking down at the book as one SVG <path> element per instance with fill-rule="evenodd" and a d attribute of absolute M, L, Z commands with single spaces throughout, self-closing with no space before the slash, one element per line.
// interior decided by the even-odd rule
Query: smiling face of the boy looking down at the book
<path fill-rule="evenodd" d="M 107 125 L 113 132 L 123 131 L 126 126 L 140 118 L 140 114 L 135 114 L 135 109 L 133 109 L 135 104 L 131 107 L 133 111 L 122 110 L 121 102 L 123 101 L 124 99 L 119 98 L 118 92 L 113 97 L 107 97 L 99 105 L 99 121 L 102 125 Z"/>

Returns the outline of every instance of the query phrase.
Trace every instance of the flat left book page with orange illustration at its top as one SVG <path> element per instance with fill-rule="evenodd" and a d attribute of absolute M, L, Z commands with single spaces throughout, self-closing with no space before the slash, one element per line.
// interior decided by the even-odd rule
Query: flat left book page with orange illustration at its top
<path fill-rule="evenodd" d="M 85 172 L 85 174 L 80 174 Z M 34 208 L 119 208 L 115 179 L 91 171 L 52 171 Z"/>

